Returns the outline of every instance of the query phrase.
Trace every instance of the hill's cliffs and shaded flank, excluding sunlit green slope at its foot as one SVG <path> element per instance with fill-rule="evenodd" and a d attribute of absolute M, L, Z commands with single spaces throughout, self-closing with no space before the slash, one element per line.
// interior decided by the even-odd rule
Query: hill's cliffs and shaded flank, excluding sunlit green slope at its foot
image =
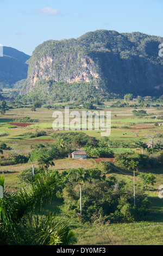
<path fill-rule="evenodd" d="M 163 58 L 158 54 L 161 42 L 159 36 L 105 30 L 78 39 L 48 40 L 35 48 L 21 94 L 48 80 L 92 82 L 103 92 L 162 94 Z"/>

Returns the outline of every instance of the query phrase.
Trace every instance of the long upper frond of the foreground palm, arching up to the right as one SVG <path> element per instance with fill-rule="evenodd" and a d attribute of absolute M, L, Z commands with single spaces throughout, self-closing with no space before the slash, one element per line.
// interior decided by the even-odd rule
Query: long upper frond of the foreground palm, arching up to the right
<path fill-rule="evenodd" d="M 55 193 L 57 173 L 35 175 L 35 182 L 0 200 L 2 223 L 18 221 L 29 210 L 40 210 Z"/>

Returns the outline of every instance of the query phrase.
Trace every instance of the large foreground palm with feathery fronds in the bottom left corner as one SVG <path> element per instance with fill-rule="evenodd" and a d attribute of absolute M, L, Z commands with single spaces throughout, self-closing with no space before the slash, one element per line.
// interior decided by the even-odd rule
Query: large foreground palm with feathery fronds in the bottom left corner
<path fill-rule="evenodd" d="M 73 245 L 77 240 L 70 224 L 37 212 L 49 202 L 57 185 L 57 172 L 35 175 L 35 182 L 0 198 L 1 245 Z"/>

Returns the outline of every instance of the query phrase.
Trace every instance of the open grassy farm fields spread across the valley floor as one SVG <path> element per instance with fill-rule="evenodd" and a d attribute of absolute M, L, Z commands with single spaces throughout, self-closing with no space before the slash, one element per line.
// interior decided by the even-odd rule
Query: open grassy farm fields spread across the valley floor
<path fill-rule="evenodd" d="M 106 102 L 107 103 L 107 102 Z M 143 141 L 144 143 L 151 143 L 151 137 L 154 133 L 159 133 L 160 137 L 154 137 L 154 143 L 162 142 L 163 128 L 161 124 L 162 108 L 150 107 L 140 108 L 147 111 L 146 117 L 135 117 L 133 115 L 133 108 L 109 108 L 111 111 L 111 133 L 108 137 L 111 141 L 109 149 L 112 150 L 113 156 L 110 157 L 97 157 L 89 156 L 87 159 L 75 160 L 68 157 L 68 154 L 59 158 L 54 157 L 53 162 L 55 166 L 49 166 L 49 170 L 57 170 L 59 173 L 67 169 L 90 169 L 98 168 L 102 160 L 110 160 L 115 163 L 115 157 L 119 154 L 140 153 L 140 148 L 135 147 L 135 143 Z M 74 136 L 83 133 L 86 136 L 101 139 L 101 130 L 62 130 L 54 131 L 52 124 L 53 112 L 56 109 L 50 108 L 36 108 L 36 111 L 31 111 L 30 108 L 13 108 L 6 111 L 5 115 L 0 117 L 0 144 L 7 144 L 10 149 L 3 150 L 1 154 L 0 175 L 4 174 L 5 187 L 18 189 L 22 186 L 18 175 L 33 165 L 35 168 L 39 167 L 38 161 L 33 157 L 28 162 L 16 164 L 2 164 L 4 159 L 11 159 L 14 155 L 29 156 L 33 153 L 34 147 L 43 144 L 46 148 L 59 143 L 57 135 L 64 136 L 65 133 L 74 133 Z M 70 109 L 70 111 L 79 111 L 82 113 L 83 109 Z M 98 110 L 98 109 L 96 109 Z M 59 109 L 64 114 L 64 109 Z M 99 111 L 106 111 L 105 108 L 99 108 Z M 108 111 L 108 109 L 107 109 Z M 155 118 L 151 118 L 153 115 Z M 82 115 L 81 115 L 82 116 Z M 29 117 L 30 119 L 38 120 L 31 123 L 17 122 L 17 119 Z M 71 119 L 72 120 L 72 119 Z M 163 120 L 163 119 L 162 119 Z M 156 125 L 156 123 L 158 123 Z M 163 123 L 162 123 L 163 125 Z M 43 131 L 43 132 L 42 132 Z M 39 137 L 33 137 L 34 134 L 42 132 Z M 121 143 L 121 145 L 118 145 Z M 123 143 L 123 144 L 122 144 Z M 129 146 L 128 146 L 129 145 Z M 84 147 L 77 147 L 78 150 L 84 150 Z M 145 154 L 147 150 L 145 149 Z M 142 149 L 141 149 L 142 154 Z M 96 221 L 91 224 L 86 221 L 84 224 L 76 222 L 71 219 L 72 228 L 78 237 L 77 245 L 163 245 L 163 199 L 160 199 L 159 186 L 163 184 L 163 169 L 161 166 L 148 168 L 139 168 L 135 172 L 135 186 L 143 187 L 140 174 L 152 173 L 155 176 L 155 183 L 150 186 L 149 190 L 146 189 L 145 193 L 148 196 L 151 206 L 146 216 L 146 220 L 131 223 L 111 223 L 103 224 Z M 118 181 L 123 180 L 129 187 L 133 187 L 133 170 L 116 167 L 115 171 L 111 170 L 105 174 L 106 177 L 114 176 Z M 132 188 L 133 189 L 133 188 Z M 60 201 L 52 201 L 48 205 L 45 212 L 52 210 L 57 216 L 64 216 L 64 206 Z M 100 234 L 100 235 L 99 235 Z"/>

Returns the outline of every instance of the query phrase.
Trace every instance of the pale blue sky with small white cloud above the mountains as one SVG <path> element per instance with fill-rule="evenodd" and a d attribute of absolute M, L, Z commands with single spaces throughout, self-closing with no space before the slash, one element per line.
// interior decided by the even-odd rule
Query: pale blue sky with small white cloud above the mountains
<path fill-rule="evenodd" d="M 43 41 L 96 29 L 163 37 L 163 0 L 0 0 L 0 44 L 32 54 Z"/>

